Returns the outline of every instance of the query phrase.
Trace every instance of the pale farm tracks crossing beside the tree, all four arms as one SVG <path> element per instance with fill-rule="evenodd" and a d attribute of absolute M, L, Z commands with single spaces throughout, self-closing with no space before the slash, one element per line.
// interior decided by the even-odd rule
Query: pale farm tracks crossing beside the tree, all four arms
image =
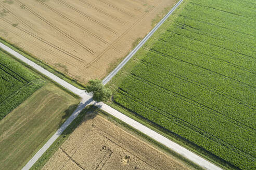
<path fill-rule="evenodd" d="M 142 42 L 124 59 L 124 61 L 116 68 L 114 71 L 107 76 L 103 83 L 106 84 L 117 72 L 124 66 L 124 64 L 129 61 L 132 56 L 136 53 L 136 51 L 142 47 L 142 45 L 148 40 L 148 38 L 159 28 L 159 26 L 171 15 L 172 11 L 174 11 L 178 5 L 181 4 L 183 0 L 179 1 L 174 8 L 168 13 L 167 16 L 161 20 L 156 27 L 142 40 Z M 61 86 L 65 87 L 66 89 L 70 90 L 76 95 L 79 95 L 82 100 L 79 106 L 75 109 L 73 114 L 67 119 L 65 123 L 62 124 L 60 129 L 47 141 L 47 143 L 34 155 L 34 157 L 22 168 L 22 170 L 30 169 L 33 164 L 42 156 L 42 154 L 54 143 L 54 141 L 60 136 L 60 134 L 68 127 L 68 125 L 79 115 L 79 113 L 84 109 L 87 105 L 95 105 L 98 108 L 108 112 L 110 115 L 122 120 L 123 122 L 133 126 L 136 130 L 150 136 L 151 138 L 155 139 L 159 143 L 167 146 L 168 148 L 172 149 L 173 151 L 181 154 L 183 157 L 187 158 L 188 160 L 202 166 L 205 169 L 221 169 L 220 167 L 212 164 L 211 162 L 199 157 L 197 154 L 187 150 L 186 148 L 174 143 L 173 141 L 169 140 L 168 138 L 158 134 L 155 131 L 152 131 L 148 127 L 144 126 L 143 124 L 138 123 L 137 121 L 123 115 L 121 112 L 111 108 L 110 106 L 100 102 L 96 103 L 92 100 L 92 96 L 85 93 L 84 90 L 80 90 L 75 88 L 68 82 L 60 79 L 59 77 L 55 76 L 54 74 L 48 72 L 46 69 L 42 68 L 41 66 L 35 64 L 34 62 L 30 61 L 29 59 L 25 58 L 23 55 L 17 53 L 16 51 L 10 49 L 9 47 L 5 46 L 4 44 L 0 43 L 0 48 L 4 49 L 5 51 L 9 52 L 10 54 L 16 56 L 19 60 L 27 63 L 31 67 L 35 68 L 40 73 L 44 74 L 45 76 L 49 77 L 50 79 L 56 81 Z"/>

